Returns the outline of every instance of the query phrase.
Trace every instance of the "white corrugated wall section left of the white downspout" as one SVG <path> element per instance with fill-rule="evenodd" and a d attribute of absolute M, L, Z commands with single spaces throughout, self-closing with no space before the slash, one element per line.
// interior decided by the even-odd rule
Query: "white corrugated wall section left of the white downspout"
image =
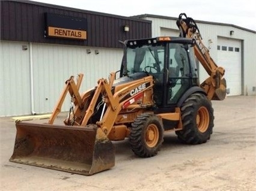
<path fill-rule="evenodd" d="M 1 41 L 0 116 L 31 113 L 28 43 Z"/>

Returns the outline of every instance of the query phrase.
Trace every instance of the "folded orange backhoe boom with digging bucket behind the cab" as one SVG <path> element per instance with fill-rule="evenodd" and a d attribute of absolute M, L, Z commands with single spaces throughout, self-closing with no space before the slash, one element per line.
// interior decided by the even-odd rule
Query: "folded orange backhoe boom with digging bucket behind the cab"
<path fill-rule="evenodd" d="M 185 17 L 184 19 L 182 17 Z M 201 34 L 194 19 L 187 17 L 181 13 L 177 20 L 177 26 L 180 29 L 180 36 L 184 38 L 193 38 L 196 41 L 194 47 L 195 56 L 203 65 L 206 72 L 210 75 L 200 86 L 206 91 L 207 97 L 212 100 L 223 100 L 226 96 L 226 81 L 224 78 L 225 69 L 218 66 L 212 57 L 209 50 L 204 46 L 201 40 Z"/>

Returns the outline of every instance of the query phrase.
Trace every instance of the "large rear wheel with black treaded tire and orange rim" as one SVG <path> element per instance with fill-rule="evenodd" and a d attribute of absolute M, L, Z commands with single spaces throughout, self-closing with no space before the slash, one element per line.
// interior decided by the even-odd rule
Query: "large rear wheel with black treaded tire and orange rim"
<path fill-rule="evenodd" d="M 179 140 L 187 144 L 202 144 L 213 131 L 213 108 L 207 97 L 200 93 L 190 95 L 181 105 L 183 129 L 176 131 Z"/>

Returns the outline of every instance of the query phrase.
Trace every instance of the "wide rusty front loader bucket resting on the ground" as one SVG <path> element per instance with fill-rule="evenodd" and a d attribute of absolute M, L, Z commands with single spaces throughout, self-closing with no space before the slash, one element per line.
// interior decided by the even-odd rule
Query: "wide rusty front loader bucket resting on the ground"
<path fill-rule="evenodd" d="M 115 149 L 102 129 L 16 123 L 11 162 L 92 175 L 115 165 Z"/>

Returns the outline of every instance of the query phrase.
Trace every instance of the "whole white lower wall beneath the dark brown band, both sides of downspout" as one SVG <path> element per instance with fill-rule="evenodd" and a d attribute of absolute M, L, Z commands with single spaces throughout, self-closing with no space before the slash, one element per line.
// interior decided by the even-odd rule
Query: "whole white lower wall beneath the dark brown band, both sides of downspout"
<path fill-rule="evenodd" d="M 32 110 L 37 114 L 49 113 L 71 75 L 84 74 L 80 89 L 82 93 L 96 86 L 99 78 L 108 78 L 110 72 L 118 71 L 123 56 L 123 50 L 114 48 L 39 43 L 29 46 L 29 43 L 14 41 L 1 41 L 0 44 L 0 116 L 31 114 Z M 28 49 L 22 50 L 22 46 Z M 87 50 L 91 53 L 88 54 Z M 99 54 L 95 54 L 95 50 Z M 32 51 L 32 96 L 29 51 Z M 31 107 L 32 97 L 34 108 Z M 68 96 L 63 111 L 67 111 L 69 106 Z"/>

